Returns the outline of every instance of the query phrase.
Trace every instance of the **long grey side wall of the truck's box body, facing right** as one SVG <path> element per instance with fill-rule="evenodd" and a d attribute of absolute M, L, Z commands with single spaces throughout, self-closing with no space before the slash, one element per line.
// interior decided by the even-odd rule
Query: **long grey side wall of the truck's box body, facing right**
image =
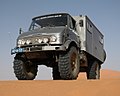
<path fill-rule="evenodd" d="M 87 52 L 95 58 L 104 61 L 103 35 L 95 25 L 86 17 L 86 47 Z"/>

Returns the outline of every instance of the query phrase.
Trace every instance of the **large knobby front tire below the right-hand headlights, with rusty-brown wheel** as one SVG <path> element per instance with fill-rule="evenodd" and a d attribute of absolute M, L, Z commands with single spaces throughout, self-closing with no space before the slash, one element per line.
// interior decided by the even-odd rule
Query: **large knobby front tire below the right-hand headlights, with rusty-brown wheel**
<path fill-rule="evenodd" d="M 59 55 L 58 67 L 62 79 L 77 79 L 80 64 L 76 47 L 72 46 L 68 52 Z"/>

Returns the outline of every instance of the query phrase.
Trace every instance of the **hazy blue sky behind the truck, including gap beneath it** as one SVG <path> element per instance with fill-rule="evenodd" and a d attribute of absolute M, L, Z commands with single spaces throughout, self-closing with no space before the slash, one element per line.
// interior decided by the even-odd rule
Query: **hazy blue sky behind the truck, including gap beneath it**
<path fill-rule="evenodd" d="M 33 17 L 56 12 L 87 15 L 104 34 L 102 69 L 120 71 L 120 0 L 0 0 L 0 80 L 16 80 L 11 49 L 19 28 L 27 31 Z M 51 79 L 51 68 L 39 66 L 36 80 Z"/>

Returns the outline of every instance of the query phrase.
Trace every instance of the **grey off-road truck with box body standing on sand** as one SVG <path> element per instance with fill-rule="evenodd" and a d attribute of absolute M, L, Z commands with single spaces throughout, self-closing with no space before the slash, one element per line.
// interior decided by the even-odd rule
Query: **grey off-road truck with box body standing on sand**
<path fill-rule="evenodd" d="M 11 54 L 18 80 L 35 79 L 38 65 L 51 67 L 53 80 L 75 80 L 80 72 L 100 79 L 106 59 L 103 34 L 87 16 L 68 13 L 34 17 L 27 32 L 19 31 Z"/>

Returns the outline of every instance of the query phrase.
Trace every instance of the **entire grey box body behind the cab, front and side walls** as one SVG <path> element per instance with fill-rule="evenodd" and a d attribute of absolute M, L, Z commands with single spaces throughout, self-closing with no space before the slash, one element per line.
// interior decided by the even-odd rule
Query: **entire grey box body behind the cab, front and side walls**
<path fill-rule="evenodd" d="M 102 33 L 87 16 L 74 16 L 74 19 L 76 20 L 76 29 L 81 41 L 81 50 L 104 62 L 104 36 Z M 79 25 L 80 20 L 83 20 L 82 27 Z"/>

